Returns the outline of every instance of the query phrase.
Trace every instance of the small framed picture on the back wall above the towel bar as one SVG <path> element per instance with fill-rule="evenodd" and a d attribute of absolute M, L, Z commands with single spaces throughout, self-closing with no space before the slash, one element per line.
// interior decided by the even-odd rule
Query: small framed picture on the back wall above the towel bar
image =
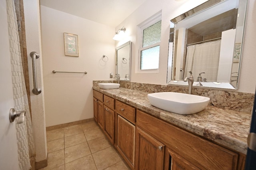
<path fill-rule="evenodd" d="M 64 32 L 65 55 L 78 57 L 78 35 Z"/>

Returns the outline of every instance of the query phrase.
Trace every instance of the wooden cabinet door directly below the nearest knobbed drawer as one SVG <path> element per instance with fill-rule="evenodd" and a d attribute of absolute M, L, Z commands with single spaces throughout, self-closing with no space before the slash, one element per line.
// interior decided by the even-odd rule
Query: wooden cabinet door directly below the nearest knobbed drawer
<path fill-rule="evenodd" d="M 120 154 L 134 168 L 135 125 L 117 114 L 116 147 Z M 128 161 L 127 161 L 128 160 Z"/>

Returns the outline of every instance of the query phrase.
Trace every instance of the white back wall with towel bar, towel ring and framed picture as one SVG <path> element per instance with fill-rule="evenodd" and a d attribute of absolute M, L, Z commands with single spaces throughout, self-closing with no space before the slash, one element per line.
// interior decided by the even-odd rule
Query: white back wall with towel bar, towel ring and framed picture
<path fill-rule="evenodd" d="M 115 30 L 40 7 L 46 127 L 92 118 L 92 81 L 108 80 L 115 72 Z M 78 35 L 79 57 L 65 56 L 64 32 Z M 102 55 L 108 56 L 108 62 L 101 60 Z M 53 70 L 88 73 L 53 74 Z"/>

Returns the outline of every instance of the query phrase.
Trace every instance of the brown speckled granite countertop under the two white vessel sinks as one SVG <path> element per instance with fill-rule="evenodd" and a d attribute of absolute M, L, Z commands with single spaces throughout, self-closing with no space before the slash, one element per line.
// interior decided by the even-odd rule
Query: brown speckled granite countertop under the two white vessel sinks
<path fill-rule="evenodd" d="M 247 152 L 250 113 L 208 105 L 199 113 L 179 115 L 152 106 L 148 101 L 148 93 L 142 91 L 126 88 L 100 89 L 98 86 L 93 89 L 218 144 L 243 154 Z"/>

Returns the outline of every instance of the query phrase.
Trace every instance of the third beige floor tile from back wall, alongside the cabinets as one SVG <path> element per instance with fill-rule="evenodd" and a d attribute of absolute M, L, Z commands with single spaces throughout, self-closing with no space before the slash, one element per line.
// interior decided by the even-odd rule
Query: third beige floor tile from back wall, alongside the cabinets
<path fill-rule="evenodd" d="M 92 153 L 98 152 L 111 146 L 110 142 L 105 136 L 88 141 L 88 145 Z"/>

